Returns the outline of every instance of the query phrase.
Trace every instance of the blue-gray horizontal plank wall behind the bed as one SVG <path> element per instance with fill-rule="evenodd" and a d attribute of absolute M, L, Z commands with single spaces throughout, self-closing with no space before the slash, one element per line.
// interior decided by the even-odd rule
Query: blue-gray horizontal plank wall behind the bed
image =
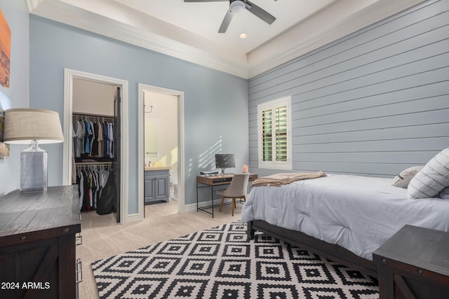
<path fill-rule="evenodd" d="M 292 96 L 293 172 L 394 176 L 449 147 L 449 1 L 426 1 L 249 81 L 257 104 Z"/>

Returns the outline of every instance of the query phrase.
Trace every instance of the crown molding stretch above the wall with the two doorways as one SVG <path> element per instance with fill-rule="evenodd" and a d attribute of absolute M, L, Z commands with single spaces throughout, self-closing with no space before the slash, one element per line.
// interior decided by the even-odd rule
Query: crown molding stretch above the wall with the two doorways
<path fill-rule="evenodd" d="M 185 43 L 175 41 L 175 39 L 155 34 L 144 26 L 112 20 L 60 0 L 27 0 L 27 6 L 29 13 L 42 18 L 154 50 L 227 74 L 248 78 L 248 63 L 244 53 L 235 53 L 231 49 L 194 36 L 191 32 L 181 32 L 185 39 L 192 41 L 192 45 L 189 45 L 187 44 L 189 41 Z M 135 23 L 138 19 L 130 20 Z"/>

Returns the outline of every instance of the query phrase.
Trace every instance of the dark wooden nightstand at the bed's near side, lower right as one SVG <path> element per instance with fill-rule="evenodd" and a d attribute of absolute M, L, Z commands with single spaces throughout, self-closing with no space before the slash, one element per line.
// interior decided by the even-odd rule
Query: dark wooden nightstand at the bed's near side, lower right
<path fill-rule="evenodd" d="M 449 298 L 449 232 L 405 225 L 373 260 L 380 299 Z"/>

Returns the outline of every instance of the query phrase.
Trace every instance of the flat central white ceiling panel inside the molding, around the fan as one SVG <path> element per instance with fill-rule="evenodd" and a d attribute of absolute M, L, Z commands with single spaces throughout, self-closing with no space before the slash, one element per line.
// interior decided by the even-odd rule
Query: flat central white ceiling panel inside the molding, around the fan
<path fill-rule="evenodd" d="M 211 1 L 207 3 L 183 0 L 114 0 L 137 11 L 151 15 L 189 32 L 194 32 L 222 46 L 249 53 L 274 36 L 296 25 L 304 18 L 326 7 L 336 0 L 253 0 L 253 3 L 276 18 L 272 25 L 257 18 L 249 11 L 235 14 L 227 32 L 218 34 L 225 14 L 229 10 L 229 1 Z M 246 33 L 248 38 L 239 39 Z"/>

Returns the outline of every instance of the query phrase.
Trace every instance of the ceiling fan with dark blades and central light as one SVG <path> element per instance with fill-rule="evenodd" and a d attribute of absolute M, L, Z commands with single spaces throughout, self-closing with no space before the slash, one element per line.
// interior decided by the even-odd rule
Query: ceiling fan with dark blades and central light
<path fill-rule="evenodd" d="M 184 0 L 184 2 L 218 2 L 218 1 L 228 1 L 228 0 Z M 222 21 L 222 25 L 220 26 L 220 29 L 218 29 L 218 33 L 225 33 L 227 30 L 227 27 L 229 26 L 229 23 L 232 20 L 232 17 L 234 16 L 234 13 L 240 13 L 241 11 L 244 11 L 245 8 L 250 12 L 253 13 L 257 18 L 260 18 L 264 22 L 267 22 L 268 24 L 272 24 L 276 18 L 274 18 L 273 15 L 269 14 L 264 9 L 260 8 L 259 6 L 253 4 L 253 2 L 250 2 L 248 0 L 229 0 L 229 10 L 227 11 L 225 18 Z"/>

